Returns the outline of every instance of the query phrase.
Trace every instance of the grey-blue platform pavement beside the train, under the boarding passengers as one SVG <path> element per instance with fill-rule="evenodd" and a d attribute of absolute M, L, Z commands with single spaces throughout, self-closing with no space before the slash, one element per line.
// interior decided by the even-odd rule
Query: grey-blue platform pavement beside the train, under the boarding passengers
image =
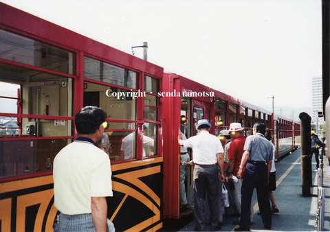
<path fill-rule="evenodd" d="M 325 156 L 323 157 L 325 158 Z M 316 163 L 312 163 L 312 170 L 315 170 L 315 167 Z M 329 231 L 330 167 L 328 159 L 324 160 L 323 173 L 323 186 L 325 187 L 326 195 L 324 231 Z M 292 154 L 289 154 L 276 163 L 277 189 L 274 191 L 274 197 L 279 213 L 272 214 L 271 231 L 314 231 L 316 212 L 318 209 L 318 173 L 313 172 L 312 175 L 314 178 L 314 185 L 311 187 L 311 196 L 303 196 L 301 185 L 300 150 L 292 152 Z M 263 227 L 261 216 L 256 214 L 259 211 L 259 207 L 256 200 L 255 189 L 252 202 L 254 205 L 254 223 L 251 225 L 251 231 L 268 231 Z M 232 224 L 232 221 L 237 219 L 237 217 L 223 218 L 223 226 L 220 231 L 232 231 L 234 228 L 238 227 Z M 194 227 L 195 224 L 192 221 L 185 227 L 178 229 L 178 231 L 193 231 Z M 209 227 L 206 227 L 206 230 L 208 229 Z"/>

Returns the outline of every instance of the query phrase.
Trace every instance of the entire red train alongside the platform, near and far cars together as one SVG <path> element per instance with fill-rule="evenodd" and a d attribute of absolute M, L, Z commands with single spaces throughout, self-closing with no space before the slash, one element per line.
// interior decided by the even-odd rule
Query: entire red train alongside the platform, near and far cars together
<path fill-rule="evenodd" d="M 78 136 L 74 115 L 83 106 L 107 116 L 108 217 L 116 231 L 157 231 L 163 218 L 180 218 L 181 115 L 188 137 L 199 119 L 210 121 L 214 135 L 235 121 L 249 135 L 263 121 L 274 132 L 277 158 L 300 142 L 294 121 L 4 3 L 0 15 L 0 84 L 14 89 L 0 92 L 1 106 L 10 106 L 0 109 L 1 231 L 52 231 L 49 169 Z"/>

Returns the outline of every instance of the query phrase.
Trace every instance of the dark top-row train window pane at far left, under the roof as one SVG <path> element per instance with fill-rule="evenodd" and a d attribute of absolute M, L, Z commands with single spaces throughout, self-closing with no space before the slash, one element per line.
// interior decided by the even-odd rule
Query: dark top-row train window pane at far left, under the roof
<path fill-rule="evenodd" d="M 0 58 L 74 74 L 74 54 L 32 38 L 0 30 Z"/>

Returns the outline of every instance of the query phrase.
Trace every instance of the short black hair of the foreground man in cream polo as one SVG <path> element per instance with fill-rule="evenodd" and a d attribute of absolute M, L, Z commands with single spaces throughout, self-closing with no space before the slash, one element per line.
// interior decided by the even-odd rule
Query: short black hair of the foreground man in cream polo
<path fill-rule="evenodd" d="M 76 113 L 76 130 L 82 135 L 92 135 L 105 121 L 102 108 L 96 106 L 85 106 Z"/>

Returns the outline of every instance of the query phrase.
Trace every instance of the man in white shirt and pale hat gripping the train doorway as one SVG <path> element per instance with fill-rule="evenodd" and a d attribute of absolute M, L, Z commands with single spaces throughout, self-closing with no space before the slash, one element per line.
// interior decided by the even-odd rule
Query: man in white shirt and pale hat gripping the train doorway
<path fill-rule="evenodd" d="M 220 140 L 210 135 L 211 124 L 207 119 L 198 121 L 196 129 L 199 134 L 189 139 L 182 140 L 181 133 L 178 135 L 178 143 L 185 148 L 192 148 L 192 163 L 194 166 L 194 220 L 195 230 L 203 231 L 205 227 L 204 207 L 206 194 L 210 206 L 211 231 L 219 229 L 218 226 L 218 187 L 219 176 L 221 183 L 225 181 L 223 173 L 223 148 Z M 189 165 L 190 162 L 185 163 Z M 218 171 L 218 165 L 220 170 Z"/>

